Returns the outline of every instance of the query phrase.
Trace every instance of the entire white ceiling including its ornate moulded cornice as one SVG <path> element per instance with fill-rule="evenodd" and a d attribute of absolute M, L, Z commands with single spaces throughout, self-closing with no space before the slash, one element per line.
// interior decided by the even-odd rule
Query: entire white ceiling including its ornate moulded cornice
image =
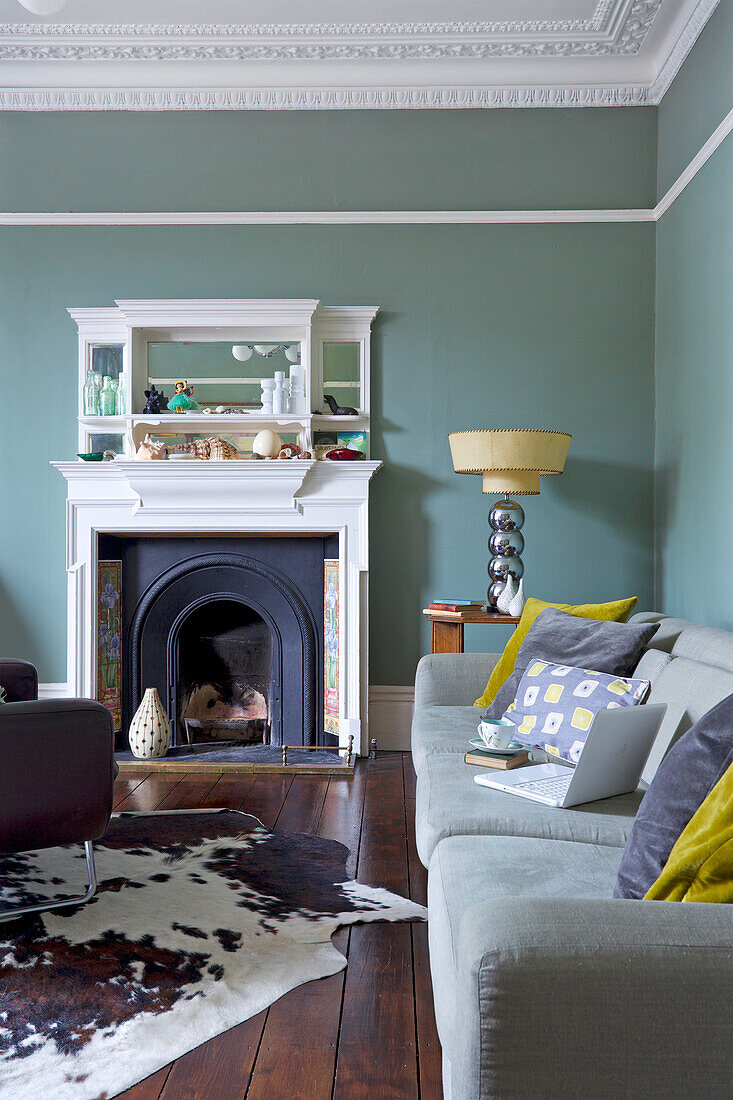
<path fill-rule="evenodd" d="M 0 107 L 656 103 L 718 2 L 0 0 Z"/>

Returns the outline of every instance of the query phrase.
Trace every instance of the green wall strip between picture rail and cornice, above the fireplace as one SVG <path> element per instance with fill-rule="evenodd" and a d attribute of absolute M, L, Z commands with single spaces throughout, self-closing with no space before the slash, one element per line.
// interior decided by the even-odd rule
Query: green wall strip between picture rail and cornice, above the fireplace
<path fill-rule="evenodd" d="M 0 210 L 654 206 L 656 111 L 0 112 Z"/>

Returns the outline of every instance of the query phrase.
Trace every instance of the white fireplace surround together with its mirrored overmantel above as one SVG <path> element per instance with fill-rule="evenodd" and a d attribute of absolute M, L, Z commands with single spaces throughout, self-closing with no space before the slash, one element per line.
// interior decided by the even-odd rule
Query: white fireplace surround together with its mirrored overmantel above
<path fill-rule="evenodd" d="M 281 650 L 285 654 L 285 648 L 272 647 L 269 660 L 273 670 L 282 666 L 282 675 L 272 676 L 271 736 L 278 736 L 282 711 L 283 736 L 289 744 L 307 743 L 310 726 L 295 729 L 287 717 L 294 684 L 300 690 L 307 683 L 310 696 L 302 713 L 316 715 L 315 744 L 344 747 L 352 738 L 357 752 L 368 751 L 369 485 L 381 466 L 369 457 L 370 331 L 376 309 L 321 306 L 315 299 L 125 300 L 111 309 L 69 312 L 79 331 L 78 451 L 114 452 L 113 461 L 79 458 L 54 463 L 67 483 L 69 693 L 98 697 L 110 710 L 106 693 L 116 693 L 118 704 L 122 700 L 120 737 L 139 692 L 149 681 L 155 683 L 155 675 L 162 678 L 158 688 L 165 698 L 166 675 L 177 682 L 178 641 L 152 647 L 152 652 L 173 654 L 167 673 L 163 667 L 146 671 L 146 651 L 135 640 L 134 614 L 156 586 L 164 585 L 162 600 L 173 600 L 180 578 L 196 576 L 200 591 L 189 592 L 180 607 L 176 605 L 176 616 L 183 620 L 188 614 L 189 605 L 211 597 L 206 614 L 223 607 L 221 635 L 228 637 L 227 616 L 233 614 L 236 597 L 237 606 L 244 606 L 242 614 L 253 620 L 255 612 L 263 622 L 274 616 L 270 637 L 277 645 L 286 636 L 297 641 L 303 623 L 311 624 L 307 630 L 303 627 L 302 646 L 303 669 L 309 671 L 288 679 L 291 667 L 285 657 L 282 661 L 277 657 Z M 261 406 L 262 380 L 272 378 L 276 370 L 298 383 L 293 387 L 298 400 L 284 413 Z M 90 373 L 110 380 L 105 383 L 106 399 L 116 392 L 119 410 L 110 414 L 109 404 L 106 414 L 85 408 Z M 186 395 L 188 405 L 199 408 L 144 411 L 145 391 L 154 385 L 167 404 L 176 382 L 188 383 L 185 388 L 193 389 Z M 355 415 L 326 411 L 325 394 L 339 406 L 352 407 Z M 288 447 L 299 442 L 313 457 L 286 459 L 283 453 L 255 461 L 252 440 L 263 429 L 280 435 Z M 147 433 L 166 443 L 166 461 L 135 457 Z M 192 441 L 212 437 L 234 441 L 239 461 L 201 461 L 186 452 Z M 329 444 L 320 446 L 324 437 Z M 358 450 L 359 461 L 327 459 L 329 449 L 348 449 L 352 454 Z M 174 454 L 180 461 L 173 461 Z M 322 565 L 314 565 L 313 548 L 321 543 L 316 558 Z M 147 580 L 135 564 L 143 560 L 152 570 Z M 118 590 L 105 572 L 114 569 Z M 260 600 L 256 593 L 265 582 L 270 596 Z M 114 658 L 101 652 L 100 601 L 108 583 L 123 635 Z M 283 593 L 293 607 L 306 608 L 289 626 L 286 612 L 277 618 L 277 601 L 286 598 Z M 127 627 L 125 619 L 130 619 Z M 237 623 L 237 637 L 249 631 L 250 645 L 252 624 Z M 139 631 L 141 638 L 146 629 Z M 180 637 L 185 640 L 188 635 L 184 631 Z M 308 638 L 315 639 L 313 645 Z M 123 660 L 120 654 L 125 654 Z M 101 683 L 105 669 L 113 666 L 122 676 L 132 676 L 127 686 L 123 682 L 122 689 L 119 684 L 110 689 Z M 177 698 L 175 691 L 168 695 L 169 701 Z"/>

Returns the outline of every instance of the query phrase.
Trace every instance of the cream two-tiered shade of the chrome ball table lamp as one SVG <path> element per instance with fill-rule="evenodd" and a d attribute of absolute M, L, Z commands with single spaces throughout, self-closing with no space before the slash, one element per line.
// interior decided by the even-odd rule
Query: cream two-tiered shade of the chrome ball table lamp
<path fill-rule="evenodd" d="M 483 492 L 536 496 L 540 474 L 561 474 L 570 447 L 566 431 L 479 428 L 448 436 L 458 474 L 482 474 Z"/>

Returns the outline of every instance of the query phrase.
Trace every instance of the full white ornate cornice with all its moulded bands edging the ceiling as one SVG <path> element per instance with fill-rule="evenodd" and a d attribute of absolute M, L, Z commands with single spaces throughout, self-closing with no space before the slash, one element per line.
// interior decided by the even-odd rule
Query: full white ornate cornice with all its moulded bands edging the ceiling
<path fill-rule="evenodd" d="M 0 109 L 656 105 L 718 3 L 686 0 L 680 9 L 686 21 L 680 29 L 678 13 L 656 64 L 644 44 L 663 0 L 598 0 L 586 20 L 6 23 L 0 24 Z M 493 61 L 499 64 L 486 64 Z M 85 62 L 100 63 L 94 85 Z M 151 62 L 177 64 L 143 64 Z M 252 64 L 237 69 L 227 62 Z"/>

